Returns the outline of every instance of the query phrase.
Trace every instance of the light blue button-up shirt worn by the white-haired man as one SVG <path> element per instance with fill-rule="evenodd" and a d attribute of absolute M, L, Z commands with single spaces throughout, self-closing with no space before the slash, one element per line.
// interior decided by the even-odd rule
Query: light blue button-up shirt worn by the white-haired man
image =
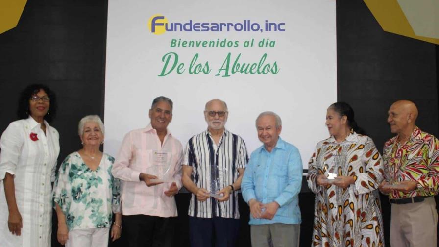
<path fill-rule="evenodd" d="M 280 137 L 271 152 L 264 145 L 254 150 L 241 183 L 243 198 L 247 203 L 250 199 L 264 204 L 276 201 L 280 207 L 271 220 L 255 219 L 250 214 L 249 224 L 300 224 L 302 171 L 299 150 Z"/>

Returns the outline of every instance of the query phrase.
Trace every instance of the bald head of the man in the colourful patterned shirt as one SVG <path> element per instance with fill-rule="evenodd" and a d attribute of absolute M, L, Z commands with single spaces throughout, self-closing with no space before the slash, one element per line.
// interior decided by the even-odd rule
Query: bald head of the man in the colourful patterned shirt
<path fill-rule="evenodd" d="M 412 101 L 398 100 L 394 102 L 390 106 L 387 118 L 391 132 L 410 135 L 415 127 L 417 114 L 417 107 Z"/>

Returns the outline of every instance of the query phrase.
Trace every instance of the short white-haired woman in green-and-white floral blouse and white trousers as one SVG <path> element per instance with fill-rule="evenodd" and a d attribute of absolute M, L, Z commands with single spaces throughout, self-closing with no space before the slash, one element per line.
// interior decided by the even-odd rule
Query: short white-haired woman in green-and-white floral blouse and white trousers
<path fill-rule="evenodd" d="M 111 174 L 114 158 L 99 151 L 104 138 L 99 116 L 81 119 L 78 132 L 83 148 L 65 158 L 53 189 L 57 237 L 66 247 L 106 247 L 110 227 L 113 241 L 121 236 L 120 181 Z"/>

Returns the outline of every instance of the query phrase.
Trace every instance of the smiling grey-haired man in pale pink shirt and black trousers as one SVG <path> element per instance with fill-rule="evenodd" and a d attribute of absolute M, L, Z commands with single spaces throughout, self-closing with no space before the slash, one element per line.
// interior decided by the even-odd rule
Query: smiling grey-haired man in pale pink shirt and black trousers
<path fill-rule="evenodd" d="M 160 96 L 149 110 L 151 123 L 128 132 L 112 173 L 122 180 L 123 234 L 129 247 L 172 247 L 181 188 L 182 146 L 169 130 L 172 101 Z"/>

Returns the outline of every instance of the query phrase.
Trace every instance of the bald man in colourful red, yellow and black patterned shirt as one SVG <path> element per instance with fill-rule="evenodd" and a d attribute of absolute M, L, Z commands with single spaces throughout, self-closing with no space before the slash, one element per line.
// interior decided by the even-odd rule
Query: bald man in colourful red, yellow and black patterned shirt
<path fill-rule="evenodd" d="M 384 144 L 386 179 L 380 185 L 391 203 L 391 246 L 427 247 L 437 241 L 439 141 L 415 126 L 417 113 L 413 102 L 399 100 L 387 119 L 397 134 Z"/>

